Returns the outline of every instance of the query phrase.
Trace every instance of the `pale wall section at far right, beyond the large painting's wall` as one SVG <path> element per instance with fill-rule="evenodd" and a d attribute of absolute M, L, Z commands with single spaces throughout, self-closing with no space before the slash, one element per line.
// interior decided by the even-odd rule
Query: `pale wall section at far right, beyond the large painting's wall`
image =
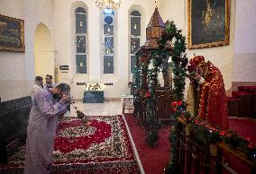
<path fill-rule="evenodd" d="M 256 82 L 255 6 L 255 0 L 236 1 L 233 82 Z"/>

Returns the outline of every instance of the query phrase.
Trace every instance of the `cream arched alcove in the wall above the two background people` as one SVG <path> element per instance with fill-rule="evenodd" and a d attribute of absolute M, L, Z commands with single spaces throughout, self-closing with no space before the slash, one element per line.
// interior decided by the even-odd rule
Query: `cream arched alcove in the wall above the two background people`
<path fill-rule="evenodd" d="M 54 50 L 50 30 L 43 23 L 37 25 L 34 34 L 34 75 L 54 77 Z"/>

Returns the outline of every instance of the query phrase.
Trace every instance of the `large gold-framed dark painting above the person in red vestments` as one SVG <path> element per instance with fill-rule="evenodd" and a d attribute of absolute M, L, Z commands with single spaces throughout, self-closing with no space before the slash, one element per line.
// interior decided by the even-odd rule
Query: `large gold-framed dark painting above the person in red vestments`
<path fill-rule="evenodd" d="M 187 48 L 229 44 L 230 0 L 187 0 Z"/>

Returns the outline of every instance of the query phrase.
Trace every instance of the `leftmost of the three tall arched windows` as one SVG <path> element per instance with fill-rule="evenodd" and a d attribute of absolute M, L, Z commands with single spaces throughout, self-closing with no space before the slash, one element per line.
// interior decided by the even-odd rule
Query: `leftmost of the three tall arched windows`
<path fill-rule="evenodd" d="M 76 64 L 77 73 L 87 74 L 87 12 L 76 9 Z"/>

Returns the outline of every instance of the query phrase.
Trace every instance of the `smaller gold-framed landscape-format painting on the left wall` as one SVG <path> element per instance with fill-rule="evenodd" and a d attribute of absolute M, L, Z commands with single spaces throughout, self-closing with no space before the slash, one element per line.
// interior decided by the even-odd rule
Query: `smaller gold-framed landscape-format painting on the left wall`
<path fill-rule="evenodd" d="M 23 20 L 0 14 L 0 50 L 25 51 Z"/>

